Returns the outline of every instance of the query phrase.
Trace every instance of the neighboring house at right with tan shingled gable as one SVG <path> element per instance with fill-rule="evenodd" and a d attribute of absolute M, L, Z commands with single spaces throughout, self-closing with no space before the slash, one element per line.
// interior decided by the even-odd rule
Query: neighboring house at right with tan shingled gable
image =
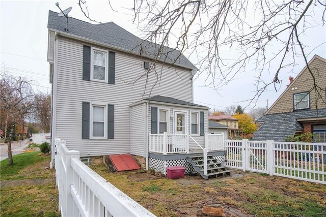
<path fill-rule="evenodd" d="M 315 55 L 257 123 L 254 140 L 284 141 L 287 136 L 312 132 L 318 141 L 326 138 L 326 59 Z M 314 79 L 318 91 L 314 89 Z"/>

